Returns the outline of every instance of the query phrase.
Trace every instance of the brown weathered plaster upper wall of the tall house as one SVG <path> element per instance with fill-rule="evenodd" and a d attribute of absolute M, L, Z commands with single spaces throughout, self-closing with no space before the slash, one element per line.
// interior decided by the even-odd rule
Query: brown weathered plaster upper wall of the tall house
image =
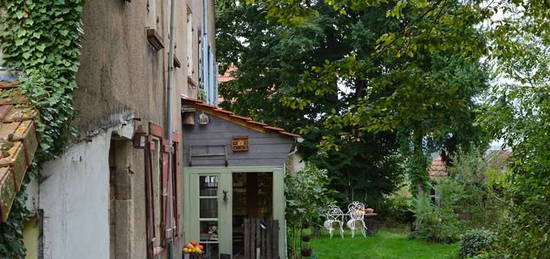
<path fill-rule="evenodd" d="M 187 6 L 193 11 L 196 32 L 202 27 L 202 1 L 176 1 L 176 56 L 182 63 L 174 72 L 174 108 L 185 94 L 196 98 L 197 89 L 187 82 Z M 76 124 L 87 132 L 98 126 L 113 126 L 108 116 L 132 111 L 143 121 L 165 124 L 166 72 L 169 43 L 169 3 L 157 1 L 156 29 L 164 49 L 155 51 L 146 37 L 147 0 L 87 1 L 84 14 L 84 37 L 81 67 L 77 74 L 75 105 L 79 112 Z M 211 23 L 213 23 L 213 18 Z M 198 61 L 198 39 L 192 49 Z M 198 72 L 195 80 L 198 82 Z M 174 128 L 179 125 L 179 110 L 174 113 Z M 178 120 L 176 120 L 178 119 Z"/>

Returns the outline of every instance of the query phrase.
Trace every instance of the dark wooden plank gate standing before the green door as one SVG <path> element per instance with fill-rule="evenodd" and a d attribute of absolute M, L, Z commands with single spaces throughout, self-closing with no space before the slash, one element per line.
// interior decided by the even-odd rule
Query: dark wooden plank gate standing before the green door
<path fill-rule="evenodd" d="M 244 249 L 245 259 L 278 259 L 279 221 L 245 219 Z"/>

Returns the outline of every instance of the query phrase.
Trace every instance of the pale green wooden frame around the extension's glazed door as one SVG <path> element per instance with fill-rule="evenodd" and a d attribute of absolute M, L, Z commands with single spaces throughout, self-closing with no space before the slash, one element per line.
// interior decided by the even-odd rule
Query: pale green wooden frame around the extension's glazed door
<path fill-rule="evenodd" d="M 229 166 L 229 167 L 185 167 L 184 180 L 184 229 L 183 236 L 185 243 L 191 240 L 199 240 L 200 230 L 198 225 L 198 179 L 199 175 L 219 175 L 218 182 L 218 226 L 219 228 L 219 246 L 220 253 L 229 253 L 233 255 L 233 173 L 272 173 L 273 174 L 273 219 L 279 221 L 279 258 L 286 258 L 286 220 L 285 220 L 285 195 L 284 195 L 284 176 L 285 170 L 277 166 Z M 196 185 L 196 187 L 191 184 Z M 220 191 L 221 190 L 221 191 Z M 228 200 L 222 209 L 223 191 L 228 192 Z M 225 237 L 225 238 L 224 238 Z M 222 240 L 222 238 L 224 240 Z"/>

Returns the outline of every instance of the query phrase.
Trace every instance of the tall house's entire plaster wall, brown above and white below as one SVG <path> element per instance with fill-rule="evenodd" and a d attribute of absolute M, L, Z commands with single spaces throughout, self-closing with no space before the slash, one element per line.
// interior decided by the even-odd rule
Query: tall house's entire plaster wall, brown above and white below
<path fill-rule="evenodd" d="M 195 33 L 193 60 L 199 82 L 198 31 L 202 28 L 202 1 L 175 1 L 176 56 L 182 67 L 174 72 L 173 129 L 181 133 L 180 96 L 196 98 L 198 89 L 187 80 L 187 6 L 192 9 Z M 213 6 L 213 0 L 209 0 Z M 77 74 L 74 122 L 81 141 L 59 159 L 48 163 L 42 174 L 40 208 L 45 210 L 46 258 L 108 258 L 108 155 L 113 127 L 133 121 L 147 130 L 149 122 L 166 126 L 166 72 L 169 43 L 169 3 L 156 0 L 156 29 L 165 48 L 154 51 L 147 41 L 147 0 L 86 1 L 84 36 Z M 213 10 L 210 15 L 214 27 Z M 211 45 L 214 45 L 211 37 Z M 135 120 L 133 120 L 135 119 Z M 130 136 L 131 137 L 131 136 Z M 179 147 L 182 154 L 182 146 Z M 143 150 L 131 152 L 134 172 L 132 254 L 145 258 L 145 185 Z M 181 168 L 181 164 L 178 164 Z M 181 170 L 180 170 L 181 171 Z M 183 192 L 182 183 L 178 191 Z M 183 203 L 179 201 L 179 208 Z M 157 212 L 158 213 L 158 212 Z M 180 218 L 183 226 L 183 218 Z M 180 229 L 180 234 L 183 232 Z M 175 245 L 180 254 L 182 241 Z"/>

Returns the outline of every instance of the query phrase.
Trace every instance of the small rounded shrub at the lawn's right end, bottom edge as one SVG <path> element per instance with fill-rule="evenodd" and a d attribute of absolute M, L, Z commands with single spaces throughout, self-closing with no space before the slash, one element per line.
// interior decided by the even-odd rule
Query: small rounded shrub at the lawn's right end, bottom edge
<path fill-rule="evenodd" d="M 462 236 L 458 255 L 461 258 L 489 256 L 494 249 L 496 235 L 486 229 L 472 229 Z"/>

